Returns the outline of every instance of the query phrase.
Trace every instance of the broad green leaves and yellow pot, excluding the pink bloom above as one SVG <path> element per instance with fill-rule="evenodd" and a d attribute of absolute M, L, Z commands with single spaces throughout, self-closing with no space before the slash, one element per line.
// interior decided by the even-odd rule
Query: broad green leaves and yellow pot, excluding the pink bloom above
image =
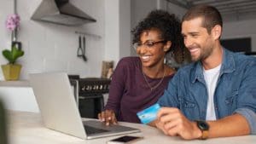
<path fill-rule="evenodd" d="M 20 77 L 21 65 L 16 60 L 24 55 L 24 51 L 13 46 L 11 50 L 3 49 L 3 56 L 9 60 L 7 65 L 2 65 L 3 76 L 5 80 L 17 80 Z"/>

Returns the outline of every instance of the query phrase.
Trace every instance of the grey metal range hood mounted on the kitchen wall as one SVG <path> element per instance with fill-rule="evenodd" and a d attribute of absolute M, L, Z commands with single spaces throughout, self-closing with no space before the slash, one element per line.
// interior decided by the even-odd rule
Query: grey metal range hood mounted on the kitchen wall
<path fill-rule="evenodd" d="M 79 26 L 95 19 L 73 6 L 68 0 L 42 0 L 32 15 L 32 20 L 40 20 L 65 26 Z"/>

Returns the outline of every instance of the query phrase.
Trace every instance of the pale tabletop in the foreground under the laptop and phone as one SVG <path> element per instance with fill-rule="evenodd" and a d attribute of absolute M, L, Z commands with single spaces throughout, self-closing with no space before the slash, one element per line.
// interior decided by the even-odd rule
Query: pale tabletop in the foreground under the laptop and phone
<path fill-rule="evenodd" d="M 148 125 L 130 123 L 119 124 L 136 127 L 142 130 L 142 133 L 132 134 L 143 135 L 143 140 L 137 141 L 137 144 L 253 144 L 256 141 L 256 135 L 215 138 L 206 141 L 184 141 L 179 137 L 166 136 L 160 130 Z M 45 128 L 39 113 L 9 112 L 10 144 L 105 144 L 106 141 L 116 137 L 119 136 L 85 141 L 71 135 L 65 135 Z"/>

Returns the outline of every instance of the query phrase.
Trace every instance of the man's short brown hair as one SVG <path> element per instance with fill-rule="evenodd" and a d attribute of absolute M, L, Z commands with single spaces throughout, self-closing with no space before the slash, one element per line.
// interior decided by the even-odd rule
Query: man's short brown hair
<path fill-rule="evenodd" d="M 182 22 L 200 17 L 203 18 L 202 27 L 207 28 L 209 34 L 214 26 L 223 26 L 222 17 L 218 9 L 209 5 L 196 5 L 192 7 L 184 14 Z"/>

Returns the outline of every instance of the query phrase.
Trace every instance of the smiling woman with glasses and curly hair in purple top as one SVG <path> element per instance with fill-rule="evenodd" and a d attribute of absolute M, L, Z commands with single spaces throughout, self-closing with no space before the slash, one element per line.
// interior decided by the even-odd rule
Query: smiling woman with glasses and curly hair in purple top
<path fill-rule="evenodd" d="M 165 56 L 183 57 L 180 22 L 163 10 L 154 10 L 132 31 L 138 57 L 119 60 L 109 89 L 105 110 L 98 114 L 102 122 L 140 123 L 137 112 L 153 105 L 176 72 L 165 65 Z"/>

